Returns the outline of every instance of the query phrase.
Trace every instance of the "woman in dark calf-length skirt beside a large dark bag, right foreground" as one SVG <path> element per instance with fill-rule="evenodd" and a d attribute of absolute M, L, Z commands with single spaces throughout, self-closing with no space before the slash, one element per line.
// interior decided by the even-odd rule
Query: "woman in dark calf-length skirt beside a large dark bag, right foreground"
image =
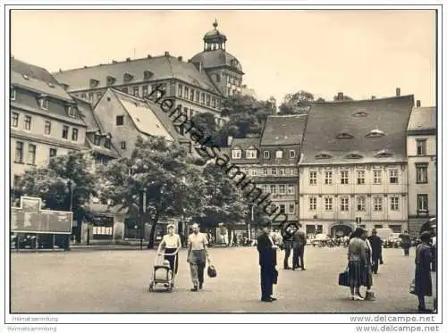
<path fill-rule="evenodd" d="M 348 244 L 348 270 L 350 277 L 350 299 L 363 301 L 360 286 L 365 284 L 365 266 L 367 263 L 366 244 L 362 239 L 364 230 L 357 228 L 350 235 Z"/>

